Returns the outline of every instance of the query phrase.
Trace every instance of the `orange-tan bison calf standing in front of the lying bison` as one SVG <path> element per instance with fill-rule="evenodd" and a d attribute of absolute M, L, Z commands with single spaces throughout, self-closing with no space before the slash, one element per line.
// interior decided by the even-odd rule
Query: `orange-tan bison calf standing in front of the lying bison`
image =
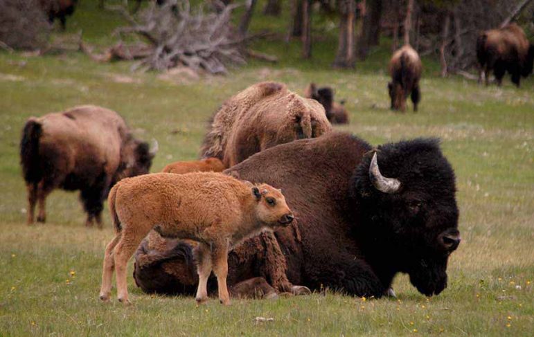
<path fill-rule="evenodd" d="M 207 282 L 213 266 L 219 299 L 230 304 L 228 251 L 266 228 L 293 221 L 280 190 L 221 173 L 156 173 L 123 179 L 109 192 L 108 202 L 116 236 L 106 247 L 100 299 L 109 299 L 116 268 L 121 302 L 128 302 L 127 262 L 152 229 L 162 237 L 199 242 L 197 302 L 208 298 Z"/>

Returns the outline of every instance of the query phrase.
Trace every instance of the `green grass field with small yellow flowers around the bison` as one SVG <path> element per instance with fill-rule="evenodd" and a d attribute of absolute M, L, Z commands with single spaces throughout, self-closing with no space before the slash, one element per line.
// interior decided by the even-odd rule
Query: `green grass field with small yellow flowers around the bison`
<path fill-rule="evenodd" d="M 89 42 L 107 44 L 114 16 L 94 6 L 80 1 L 69 31 L 84 28 Z M 257 17 L 253 29 L 276 29 L 276 20 Z M 373 51 L 356 71 L 332 71 L 335 32 L 321 37 L 312 61 L 299 60 L 298 45 L 256 42 L 254 48 L 283 62 L 273 68 L 252 62 L 226 77 L 199 80 L 131 73 L 131 64 L 96 64 L 76 53 L 0 53 L 0 336 L 531 336 L 534 78 L 521 89 L 508 79 L 502 88 L 487 88 L 438 78 L 436 64 L 425 60 L 420 111 L 393 113 L 384 71 L 389 46 Z M 393 284 L 398 300 L 327 292 L 197 307 L 193 298 L 145 295 L 130 277 L 134 305 L 104 304 L 98 300 L 100 269 L 113 235 L 107 213 L 103 230 L 84 228 L 77 196 L 58 190 L 48 199 L 48 222 L 26 226 L 18 143 L 29 116 L 77 104 L 115 109 L 136 136 L 159 140 L 157 172 L 170 161 L 196 158 L 211 113 L 260 80 L 282 81 L 299 93 L 310 81 L 335 86 L 350 111 L 350 125 L 336 129 L 375 145 L 416 136 L 443 140 L 456 170 L 463 242 L 450 259 L 442 294 L 425 298 L 399 275 Z M 257 316 L 274 321 L 255 322 Z"/>

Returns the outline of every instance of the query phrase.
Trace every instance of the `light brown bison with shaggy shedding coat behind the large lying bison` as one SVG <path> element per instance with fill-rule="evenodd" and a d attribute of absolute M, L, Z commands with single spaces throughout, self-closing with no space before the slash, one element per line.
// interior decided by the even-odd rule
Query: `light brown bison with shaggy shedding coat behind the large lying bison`
<path fill-rule="evenodd" d="M 331 128 L 317 101 L 292 93 L 284 84 L 262 82 L 222 104 L 201 154 L 230 167 L 274 145 L 319 137 Z"/>

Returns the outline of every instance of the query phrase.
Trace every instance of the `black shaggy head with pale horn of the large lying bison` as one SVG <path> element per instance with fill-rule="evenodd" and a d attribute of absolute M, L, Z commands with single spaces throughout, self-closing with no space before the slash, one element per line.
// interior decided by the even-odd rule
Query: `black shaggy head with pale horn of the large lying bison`
<path fill-rule="evenodd" d="M 445 289 L 447 259 L 460 243 L 454 179 L 435 139 L 383 145 L 355 172 L 364 250 L 408 273 L 425 295 Z"/>

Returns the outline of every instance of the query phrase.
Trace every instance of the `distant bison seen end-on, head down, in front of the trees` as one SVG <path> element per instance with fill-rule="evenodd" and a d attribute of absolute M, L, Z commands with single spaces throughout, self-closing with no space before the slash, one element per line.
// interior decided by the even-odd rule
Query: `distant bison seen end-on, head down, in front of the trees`
<path fill-rule="evenodd" d="M 404 111 L 408 96 L 413 102 L 413 111 L 417 111 L 417 104 L 421 100 L 419 80 L 422 64 L 418 53 L 411 46 L 404 45 L 393 53 L 389 61 L 391 82 L 388 83 L 391 109 Z"/>

